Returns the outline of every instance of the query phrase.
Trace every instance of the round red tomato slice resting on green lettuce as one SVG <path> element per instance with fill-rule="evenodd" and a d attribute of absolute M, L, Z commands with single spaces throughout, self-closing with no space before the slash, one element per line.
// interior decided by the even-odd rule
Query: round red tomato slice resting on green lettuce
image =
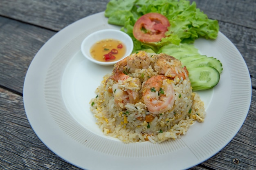
<path fill-rule="evenodd" d="M 141 42 L 159 42 L 165 37 L 169 20 L 160 13 L 142 15 L 133 26 L 134 37 Z"/>

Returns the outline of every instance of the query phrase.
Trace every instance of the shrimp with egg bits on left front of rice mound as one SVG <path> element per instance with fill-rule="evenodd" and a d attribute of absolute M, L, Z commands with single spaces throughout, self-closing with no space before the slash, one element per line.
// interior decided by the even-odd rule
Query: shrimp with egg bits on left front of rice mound
<path fill-rule="evenodd" d="M 112 93 L 117 106 L 124 108 L 127 103 L 137 103 L 139 90 L 141 89 L 141 83 L 138 78 L 130 77 L 121 72 L 117 72 L 109 78 L 116 81 L 112 85 Z"/>

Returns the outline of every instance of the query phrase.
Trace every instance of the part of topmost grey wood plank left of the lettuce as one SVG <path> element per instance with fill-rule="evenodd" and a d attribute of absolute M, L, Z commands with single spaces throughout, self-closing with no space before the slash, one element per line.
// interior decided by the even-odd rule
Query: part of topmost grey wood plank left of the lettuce
<path fill-rule="evenodd" d="M 1 0 L 0 15 L 59 31 L 88 15 L 105 11 L 109 0 Z"/>

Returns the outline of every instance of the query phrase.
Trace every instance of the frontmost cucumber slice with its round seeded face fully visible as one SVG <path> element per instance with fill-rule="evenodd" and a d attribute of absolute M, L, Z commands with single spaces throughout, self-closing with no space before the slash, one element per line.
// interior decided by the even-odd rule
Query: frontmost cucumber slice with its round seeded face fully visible
<path fill-rule="evenodd" d="M 200 66 L 189 69 L 189 79 L 193 91 L 213 88 L 220 81 L 220 73 L 213 67 Z"/>

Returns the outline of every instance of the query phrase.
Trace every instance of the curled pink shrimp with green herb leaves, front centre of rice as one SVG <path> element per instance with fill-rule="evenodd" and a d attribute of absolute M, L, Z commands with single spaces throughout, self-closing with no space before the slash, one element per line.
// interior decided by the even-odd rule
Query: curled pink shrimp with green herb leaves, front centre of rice
<path fill-rule="evenodd" d="M 164 75 L 155 75 L 144 84 L 142 97 L 150 113 L 158 115 L 173 107 L 175 93 L 171 81 Z"/>

